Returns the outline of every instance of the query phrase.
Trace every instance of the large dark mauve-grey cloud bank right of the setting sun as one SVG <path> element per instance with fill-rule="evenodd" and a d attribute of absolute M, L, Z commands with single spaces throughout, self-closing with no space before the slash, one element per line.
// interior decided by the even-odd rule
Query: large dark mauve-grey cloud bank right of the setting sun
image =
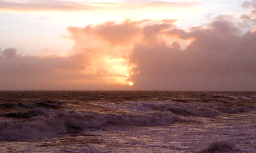
<path fill-rule="evenodd" d="M 184 50 L 178 42 L 172 46 L 164 43 L 135 46 L 130 55 L 130 62 L 138 65 L 134 69 L 137 73 L 130 78 L 134 88 L 255 90 L 256 32 L 239 35 L 239 29 L 223 18 L 208 26 L 195 27 L 189 32 L 164 29 L 170 36 L 194 39 Z"/>

